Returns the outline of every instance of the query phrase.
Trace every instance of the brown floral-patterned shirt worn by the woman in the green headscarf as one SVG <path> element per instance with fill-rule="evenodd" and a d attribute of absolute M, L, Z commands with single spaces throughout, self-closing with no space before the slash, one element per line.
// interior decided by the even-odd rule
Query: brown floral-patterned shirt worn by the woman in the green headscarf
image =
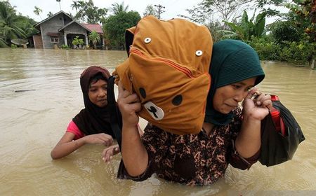
<path fill-rule="evenodd" d="M 148 153 L 148 167 L 137 177 L 129 176 L 121 161 L 118 178 L 143 181 L 153 173 L 168 181 L 187 185 L 209 185 L 224 176 L 228 164 L 249 169 L 258 160 L 259 151 L 251 158 L 235 152 L 234 141 L 242 124 L 242 110 L 232 111 L 228 125 L 216 126 L 209 135 L 177 135 L 153 125 L 145 127 L 142 141 Z"/>

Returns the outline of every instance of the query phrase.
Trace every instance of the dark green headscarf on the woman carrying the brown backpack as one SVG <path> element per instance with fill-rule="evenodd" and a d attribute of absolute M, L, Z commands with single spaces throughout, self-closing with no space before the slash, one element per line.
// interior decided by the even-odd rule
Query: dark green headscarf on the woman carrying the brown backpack
<path fill-rule="evenodd" d="M 213 97 L 218 87 L 254 77 L 257 77 L 257 85 L 265 77 L 256 51 L 250 45 L 237 40 L 218 41 L 213 45 L 209 73 L 212 83 L 204 122 L 213 125 L 227 125 L 232 121 L 232 112 L 223 114 L 213 109 Z"/>

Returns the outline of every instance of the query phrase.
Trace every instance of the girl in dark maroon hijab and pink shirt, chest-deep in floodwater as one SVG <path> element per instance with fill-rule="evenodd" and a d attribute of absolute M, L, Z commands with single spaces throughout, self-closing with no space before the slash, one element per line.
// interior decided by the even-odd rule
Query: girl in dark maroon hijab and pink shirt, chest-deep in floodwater
<path fill-rule="evenodd" d="M 114 134 L 107 106 L 109 77 L 109 71 L 100 66 L 89 66 L 81 73 L 80 85 L 85 108 L 72 119 L 67 131 L 51 151 L 51 158 L 65 157 L 84 144 L 112 145 Z M 112 151 L 119 151 L 119 148 L 113 148 Z"/>

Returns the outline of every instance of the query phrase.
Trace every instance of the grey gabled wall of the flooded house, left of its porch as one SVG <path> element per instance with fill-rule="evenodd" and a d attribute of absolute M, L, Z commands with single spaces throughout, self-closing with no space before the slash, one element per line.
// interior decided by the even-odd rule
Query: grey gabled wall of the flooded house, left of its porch
<path fill-rule="evenodd" d="M 67 25 L 67 23 L 72 20 L 65 16 L 63 13 L 56 15 L 54 18 L 47 20 L 41 24 L 41 39 L 43 41 L 43 48 L 53 48 L 54 43 L 51 43 L 51 36 L 48 36 L 48 33 L 59 33 L 59 29 Z M 60 33 L 59 33 L 60 34 Z M 64 39 L 62 34 L 59 36 L 58 45 L 62 45 L 64 43 Z"/>

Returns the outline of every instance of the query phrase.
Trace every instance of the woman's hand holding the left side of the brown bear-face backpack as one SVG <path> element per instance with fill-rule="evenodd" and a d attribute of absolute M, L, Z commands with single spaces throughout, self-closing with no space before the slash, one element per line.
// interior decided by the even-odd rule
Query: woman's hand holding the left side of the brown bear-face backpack
<path fill-rule="evenodd" d="M 124 127 L 135 127 L 138 124 L 138 115 L 136 114 L 141 109 L 140 101 L 136 93 L 131 94 L 124 90 L 119 81 L 119 96 L 117 97 L 117 105 L 123 118 Z"/>

